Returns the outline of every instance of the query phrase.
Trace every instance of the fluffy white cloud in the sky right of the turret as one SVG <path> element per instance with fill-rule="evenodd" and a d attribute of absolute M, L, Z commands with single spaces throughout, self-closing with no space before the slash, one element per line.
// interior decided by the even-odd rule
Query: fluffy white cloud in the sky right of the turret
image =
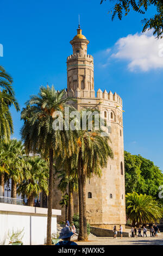
<path fill-rule="evenodd" d="M 163 39 L 156 39 L 152 31 L 120 38 L 113 51 L 111 57 L 127 60 L 130 71 L 163 68 Z"/>

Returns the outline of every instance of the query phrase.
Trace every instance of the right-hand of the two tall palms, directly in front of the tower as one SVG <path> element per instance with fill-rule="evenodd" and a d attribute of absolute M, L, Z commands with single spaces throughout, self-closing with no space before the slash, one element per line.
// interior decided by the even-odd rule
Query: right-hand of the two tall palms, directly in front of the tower
<path fill-rule="evenodd" d="M 92 113 L 90 112 L 89 115 Z M 89 115 L 87 121 L 89 122 Z M 82 117 L 82 112 L 80 112 Z M 87 123 L 87 127 L 89 127 Z M 77 163 L 78 163 L 78 188 L 79 188 L 79 235 L 78 240 L 87 240 L 86 222 L 86 178 L 92 174 L 100 175 L 101 168 L 107 166 L 108 157 L 113 158 L 109 146 L 110 138 L 103 131 L 79 130 L 77 132 Z"/>

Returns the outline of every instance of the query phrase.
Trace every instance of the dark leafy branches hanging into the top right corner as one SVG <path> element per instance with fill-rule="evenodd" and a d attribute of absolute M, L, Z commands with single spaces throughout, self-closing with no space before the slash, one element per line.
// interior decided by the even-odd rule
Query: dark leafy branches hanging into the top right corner
<path fill-rule="evenodd" d="M 106 0 L 101 0 L 101 4 Z M 112 13 L 111 20 L 118 16 L 118 19 L 122 20 L 122 16 L 127 16 L 130 10 L 134 10 L 137 13 L 145 14 L 146 11 L 153 6 L 155 8 L 155 14 L 147 19 L 142 20 L 143 29 L 142 32 L 146 32 L 147 29 L 154 29 L 153 34 L 157 38 L 162 38 L 163 33 L 163 2 L 162 0 L 110 0 L 111 4 L 114 3 L 114 7 L 109 10 Z"/>

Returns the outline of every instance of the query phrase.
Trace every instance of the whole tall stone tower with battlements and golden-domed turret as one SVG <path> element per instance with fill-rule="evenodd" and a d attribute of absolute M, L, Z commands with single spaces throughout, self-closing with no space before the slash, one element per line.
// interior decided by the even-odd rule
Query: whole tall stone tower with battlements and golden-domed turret
<path fill-rule="evenodd" d="M 113 225 L 126 224 L 124 155 L 123 155 L 123 111 L 122 99 L 112 94 L 94 90 L 93 57 L 87 54 L 89 41 L 77 29 L 77 35 L 70 41 L 73 54 L 67 57 L 67 92 L 76 97 L 75 107 L 80 110 L 91 107 L 102 111 L 111 138 L 114 159 L 102 170 L 102 176 L 93 176 L 86 182 L 87 221 L 94 227 L 111 228 Z M 55 191 L 53 206 L 59 207 L 59 191 Z M 58 209 L 58 208 L 57 208 Z M 78 212 L 78 196 L 74 194 L 74 213 Z M 63 212 L 62 220 L 65 214 Z"/>

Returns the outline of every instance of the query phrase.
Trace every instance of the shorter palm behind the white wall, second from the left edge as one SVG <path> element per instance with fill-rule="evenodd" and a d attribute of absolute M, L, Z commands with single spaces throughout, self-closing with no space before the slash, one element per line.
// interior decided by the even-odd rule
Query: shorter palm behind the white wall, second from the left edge
<path fill-rule="evenodd" d="M 4 151 L 7 155 L 9 179 L 11 178 L 11 197 L 16 198 L 16 186 L 23 180 L 23 145 L 17 139 L 11 139 L 4 143 Z"/>

